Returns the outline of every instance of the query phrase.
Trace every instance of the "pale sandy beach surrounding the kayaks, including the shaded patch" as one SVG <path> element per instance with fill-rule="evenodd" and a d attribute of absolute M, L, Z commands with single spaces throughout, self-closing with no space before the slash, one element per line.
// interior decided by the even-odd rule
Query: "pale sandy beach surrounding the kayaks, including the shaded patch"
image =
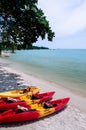
<path fill-rule="evenodd" d="M 0 91 L 36 86 L 40 92 L 55 91 L 53 99 L 70 97 L 68 106 L 59 113 L 37 121 L 0 125 L 1 130 L 86 130 L 86 97 L 52 82 L 27 75 L 4 65 L 0 59 Z"/>

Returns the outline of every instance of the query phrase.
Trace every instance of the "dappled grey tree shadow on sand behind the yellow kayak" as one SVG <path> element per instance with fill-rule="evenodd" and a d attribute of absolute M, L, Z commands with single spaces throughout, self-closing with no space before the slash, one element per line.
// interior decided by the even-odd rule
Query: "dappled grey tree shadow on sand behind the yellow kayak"
<path fill-rule="evenodd" d="M 21 79 L 20 75 L 8 73 L 0 66 L 0 92 L 26 87 L 23 85 L 23 79 Z"/>

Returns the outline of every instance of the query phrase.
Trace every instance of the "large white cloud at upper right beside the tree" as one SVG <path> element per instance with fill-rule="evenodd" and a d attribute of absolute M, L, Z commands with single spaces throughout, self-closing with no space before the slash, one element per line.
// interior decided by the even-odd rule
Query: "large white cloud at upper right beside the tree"
<path fill-rule="evenodd" d="M 86 0 L 40 0 L 39 7 L 59 37 L 86 29 Z"/>

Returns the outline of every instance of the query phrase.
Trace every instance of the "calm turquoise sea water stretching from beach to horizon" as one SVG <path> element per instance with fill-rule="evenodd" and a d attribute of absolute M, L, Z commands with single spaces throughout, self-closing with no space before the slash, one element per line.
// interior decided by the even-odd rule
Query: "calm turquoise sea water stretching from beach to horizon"
<path fill-rule="evenodd" d="M 86 50 L 22 50 L 11 66 L 86 95 Z M 15 63 L 15 64 L 14 64 Z"/>

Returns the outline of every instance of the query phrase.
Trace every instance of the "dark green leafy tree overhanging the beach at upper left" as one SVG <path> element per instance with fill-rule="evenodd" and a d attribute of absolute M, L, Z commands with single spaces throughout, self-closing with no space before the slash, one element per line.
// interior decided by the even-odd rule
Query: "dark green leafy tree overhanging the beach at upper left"
<path fill-rule="evenodd" d="M 4 19 L 6 43 L 11 46 L 21 44 L 28 49 L 39 37 L 53 40 L 54 32 L 37 0 L 0 0 L 0 15 Z M 7 44 L 7 45 L 8 45 Z"/>

